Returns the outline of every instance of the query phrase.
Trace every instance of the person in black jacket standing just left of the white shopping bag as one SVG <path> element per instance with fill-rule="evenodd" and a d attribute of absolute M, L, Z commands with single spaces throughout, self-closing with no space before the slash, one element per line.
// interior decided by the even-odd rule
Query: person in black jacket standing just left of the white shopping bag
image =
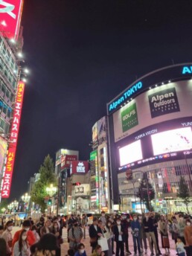
<path fill-rule="evenodd" d="M 99 228 L 99 226 L 97 225 L 97 223 L 98 223 L 97 218 L 94 217 L 93 223 L 89 227 L 89 237 L 90 237 L 90 245 L 92 247 L 92 252 L 94 252 L 95 247 L 98 244 L 97 243 L 98 238 L 103 236 L 102 231 Z"/>

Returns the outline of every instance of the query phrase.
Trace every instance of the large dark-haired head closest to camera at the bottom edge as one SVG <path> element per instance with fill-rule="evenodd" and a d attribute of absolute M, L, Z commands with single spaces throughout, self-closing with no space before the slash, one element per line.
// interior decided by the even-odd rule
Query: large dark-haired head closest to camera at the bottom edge
<path fill-rule="evenodd" d="M 35 256 L 60 256 L 57 238 L 54 234 L 44 234 L 38 243 L 31 246 L 31 253 Z"/>

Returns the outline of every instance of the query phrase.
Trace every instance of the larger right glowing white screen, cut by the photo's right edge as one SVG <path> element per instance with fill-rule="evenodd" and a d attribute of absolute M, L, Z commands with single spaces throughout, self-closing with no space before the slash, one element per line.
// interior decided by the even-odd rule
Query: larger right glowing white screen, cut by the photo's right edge
<path fill-rule="evenodd" d="M 154 156 L 192 149 L 191 127 L 170 129 L 151 135 Z"/>

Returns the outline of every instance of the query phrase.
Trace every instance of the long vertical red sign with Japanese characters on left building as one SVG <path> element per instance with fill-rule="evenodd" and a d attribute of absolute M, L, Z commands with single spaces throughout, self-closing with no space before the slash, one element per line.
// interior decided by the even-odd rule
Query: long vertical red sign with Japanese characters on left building
<path fill-rule="evenodd" d="M 8 198 L 10 196 L 10 186 L 13 176 L 13 167 L 16 156 L 16 144 L 19 135 L 19 124 L 22 114 L 23 95 L 25 83 L 19 82 L 16 93 L 16 104 L 13 111 L 13 123 L 10 129 L 10 144 L 7 152 L 7 162 L 5 166 L 4 178 L 2 182 L 1 197 Z"/>

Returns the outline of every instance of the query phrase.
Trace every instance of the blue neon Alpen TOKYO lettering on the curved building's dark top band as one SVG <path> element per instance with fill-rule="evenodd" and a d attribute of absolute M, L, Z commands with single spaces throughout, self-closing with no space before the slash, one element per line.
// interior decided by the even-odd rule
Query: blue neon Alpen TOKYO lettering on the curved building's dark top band
<path fill-rule="evenodd" d="M 121 105 L 121 103 L 124 103 L 125 100 L 128 100 L 132 95 L 135 95 L 136 92 L 138 92 L 143 87 L 143 83 L 140 81 L 138 83 L 135 83 L 132 87 L 130 87 L 126 92 L 124 92 L 123 95 L 121 95 L 117 100 L 114 100 L 109 105 L 109 112 L 112 110 L 117 109 L 118 106 Z"/>

